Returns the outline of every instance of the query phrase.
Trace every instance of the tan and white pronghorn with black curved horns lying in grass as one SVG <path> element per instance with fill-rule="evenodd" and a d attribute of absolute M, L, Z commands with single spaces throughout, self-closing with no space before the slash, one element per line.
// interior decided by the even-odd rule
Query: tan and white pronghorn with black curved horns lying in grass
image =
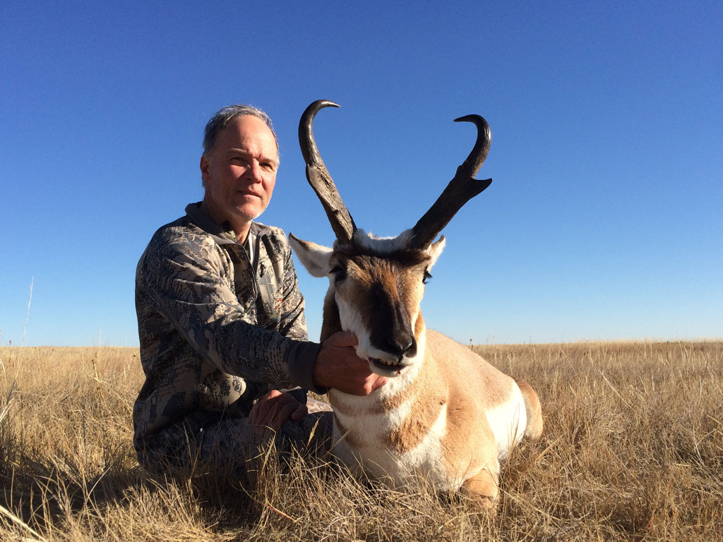
<path fill-rule="evenodd" d="M 315 277 L 329 278 L 321 340 L 339 330 L 359 339 L 356 353 L 390 378 L 366 397 L 329 390 L 334 409 L 334 454 L 393 485 L 422 475 L 438 489 L 463 489 L 482 507 L 494 507 L 500 460 L 522 436 L 542 433 L 536 393 L 469 348 L 427 330 L 419 304 L 429 269 L 439 257 L 442 228 L 492 182 L 474 178 L 487 158 L 489 126 L 474 122 L 469 157 L 434 205 L 411 230 L 378 238 L 356 228 L 321 159 L 312 132 L 321 108 L 312 103 L 299 123 L 309 184 L 320 198 L 336 241 L 333 249 L 290 235 L 291 246 Z"/>

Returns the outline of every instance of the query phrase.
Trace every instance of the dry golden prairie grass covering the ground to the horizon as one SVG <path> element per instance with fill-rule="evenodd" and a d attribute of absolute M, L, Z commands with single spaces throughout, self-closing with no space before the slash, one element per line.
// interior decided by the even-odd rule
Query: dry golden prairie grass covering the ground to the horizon
<path fill-rule="evenodd" d="M 131 348 L 0 348 L 3 541 L 720 541 L 723 343 L 475 347 L 538 391 L 496 517 L 324 459 L 243 483 L 137 467 Z"/>

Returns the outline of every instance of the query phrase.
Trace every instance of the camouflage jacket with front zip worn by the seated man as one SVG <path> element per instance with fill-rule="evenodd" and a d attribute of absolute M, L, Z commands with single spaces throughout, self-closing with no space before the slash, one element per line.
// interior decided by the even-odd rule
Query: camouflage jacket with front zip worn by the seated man
<path fill-rule="evenodd" d="M 254 270 L 228 223 L 217 225 L 198 203 L 186 212 L 155 232 L 136 270 L 145 372 L 133 408 L 138 451 L 174 424 L 192 421 L 194 429 L 246 416 L 272 387 L 315 389 L 320 346 L 307 342 L 304 298 L 281 229 L 252 223 Z"/>

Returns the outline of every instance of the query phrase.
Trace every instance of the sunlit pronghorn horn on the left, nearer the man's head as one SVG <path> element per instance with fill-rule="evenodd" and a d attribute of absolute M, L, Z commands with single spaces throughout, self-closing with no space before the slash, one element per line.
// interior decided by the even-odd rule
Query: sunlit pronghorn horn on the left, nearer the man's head
<path fill-rule="evenodd" d="M 312 129 L 316 114 L 322 108 L 330 106 L 338 107 L 338 104 L 329 100 L 317 100 L 307 107 L 299 121 L 299 146 L 304 162 L 307 163 L 307 180 L 321 200 L 336 238 L 342 243 L 348 243 L 356 231 L 356 225 L 319 155 Z"/>

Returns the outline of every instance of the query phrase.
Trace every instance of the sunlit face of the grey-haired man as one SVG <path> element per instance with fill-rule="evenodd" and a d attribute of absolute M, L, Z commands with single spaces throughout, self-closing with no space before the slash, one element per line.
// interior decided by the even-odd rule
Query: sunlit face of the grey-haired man
<path fill-rule="evenodd" d="M 261 119 L 236 117 L 218 132 L 200 167 L 208 214 L 219 224 L 228 220 L 237 230 L 269 204 L 278 169 L 276 141 Z"/>

